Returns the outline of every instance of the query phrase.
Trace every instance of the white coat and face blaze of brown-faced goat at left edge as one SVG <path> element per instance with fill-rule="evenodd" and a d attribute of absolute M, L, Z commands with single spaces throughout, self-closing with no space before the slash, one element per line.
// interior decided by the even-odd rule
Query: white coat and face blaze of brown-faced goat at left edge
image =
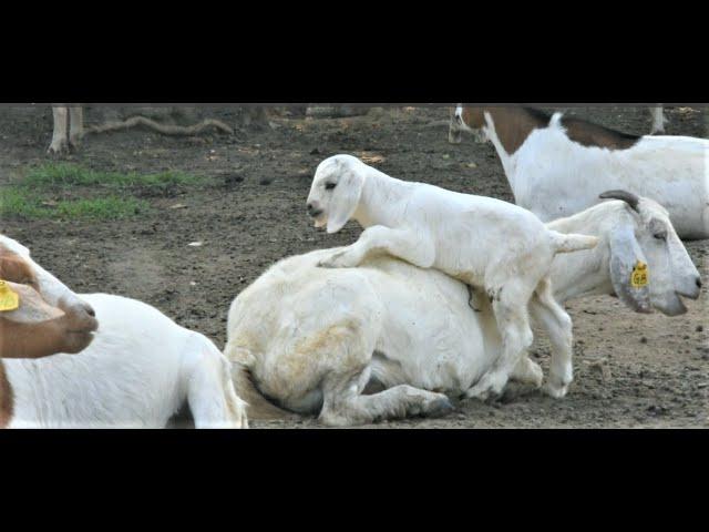
<path fill-rule="evenodd" d="M 7 250 L 22 257 L 21 270 L 32 274 L 18 275 L 39 279 L 34 284 L 44 299 L 82 301 L 99 320 L 93 341 L 78 355 L 4 360 L 14 401 L 10 428 L 161 428 L 185 402 L 197 428 L 247 427 L 230 365 L 205 336 L 134 299 L 78 296 L 37 265 L 24 246 L 0 235 L 2 249 L 6 258 Z"/>

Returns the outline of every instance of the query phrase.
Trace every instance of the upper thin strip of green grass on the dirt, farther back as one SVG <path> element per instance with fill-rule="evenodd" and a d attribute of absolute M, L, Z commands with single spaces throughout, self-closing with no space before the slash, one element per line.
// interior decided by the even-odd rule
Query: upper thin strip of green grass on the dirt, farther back
<path fill-rule="evenodd" d="M 175 185 L 196 185 L 202 182 L 196 175 L 167 171 L 156 174 L 137 172 L 100 172 L 70 163 L 49 163 L 27 171 L 20 184 L 29 187 L 43 186 L 105 186 L 110 188 L 152 187 L 167 188 Z"/>

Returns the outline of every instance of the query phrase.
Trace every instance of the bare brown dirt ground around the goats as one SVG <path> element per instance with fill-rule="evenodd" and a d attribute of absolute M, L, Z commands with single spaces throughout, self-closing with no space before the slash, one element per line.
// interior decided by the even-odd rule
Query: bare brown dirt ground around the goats
<path fill-rule="evenodd" d="M 641 108 L 571 108 L 628 133 L 649 131 Z M 93 114 L 92 114 L 93 113 Z M 239 110 L 201 113 L 236 125 Z M 671 108 L 668 134 L 709 136 L 709 109 Z M 100 120 L 90 110 L 86 120 Z M 391 175 L 512 201 L 490 144 L 446 141 L 448 109 L 374 110 L 347 119 L 276 117 L 275 130 L 237 127 L 235 135 L 166 137 L 132 130 L 88 136 L 64 157 L 95 170 L 179 170 L 209 177 L 198 188 L 148 197 L 151 215 L 121 222 L 1 219 L 0 232 L 28 245 L 35 259 L 80 293 L 106 291 L 142 299 L 178 324 L 225 341 L 230 301 L 267 266 L 285 256 L 345 245 L 353 223 L 337 235 L 316 231 L 305 200 L 317 164 L 336 153 L 382 157 Z M 0 108 L 0 185 L 22 166 L 50 160 L 49 108 Z M 186 208 L 169 208 L 181 203 Z M 202 241 L 202 247 L 188 243 Z M 687 243 L 709 279 L 709 241 Z M 709 427 L 709 283 L 677 318 L 638 315 L 612 297 L 568 305 L 574 319 L 575 382 L 563 400 L 538 392 L 504 401 L 466 401 L 435 420 L 383 422 L 371 428 L 618 428 Z M 537 335 L 535 358 L 547 369 L 548 342 Z M 514 391 L 514 390 L 513 390 Z M 524 391 L 524 390 L 523 390 Z M 253 427 L 318 427 L 253 422 Z"/>

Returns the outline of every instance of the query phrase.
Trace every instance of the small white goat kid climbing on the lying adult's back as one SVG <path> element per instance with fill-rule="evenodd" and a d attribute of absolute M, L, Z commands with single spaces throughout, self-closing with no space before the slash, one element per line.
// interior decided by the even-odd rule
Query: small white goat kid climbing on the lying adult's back
<path fill-rule="evenodd" d="M 544 325 L 549 334 L 563 336 L 563 349 L 571 354 L 571 318 L 554 300 L 548 272 L 557 253 L 592 248 L 596 237 L 549 231 L 528 211 L 500 200 L 395 180 L 350 155 L 320 163 L 308 213 L 317 227 L 327 224 L 328 233 L 340 231 L 350 218 L 364 227 L 354 244 L 323 258 L 321 266 L 354 267 L 371 255 L 388 253 L 484 288 L 504 347 L 472 396 L 501 393 L 532 345 L 526 311 L 532 298 L 547 313 Z M 569 378 L 555 377 L 558 386 Z"/>

